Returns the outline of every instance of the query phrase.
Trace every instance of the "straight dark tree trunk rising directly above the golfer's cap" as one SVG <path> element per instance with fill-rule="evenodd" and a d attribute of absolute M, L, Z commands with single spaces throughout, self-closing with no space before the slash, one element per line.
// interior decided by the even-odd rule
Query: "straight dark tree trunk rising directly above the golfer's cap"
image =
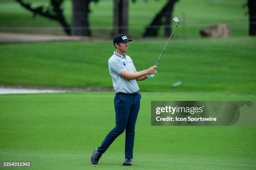
<path fill-rule="evenodd" d="M 128 0 L 114 0 L 113 34 L 128 34 Z"/>

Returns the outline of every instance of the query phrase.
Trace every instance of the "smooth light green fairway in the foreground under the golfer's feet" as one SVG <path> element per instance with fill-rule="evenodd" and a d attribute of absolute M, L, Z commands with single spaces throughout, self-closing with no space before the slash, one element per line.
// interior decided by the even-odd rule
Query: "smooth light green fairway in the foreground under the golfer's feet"
<path fill-rule="evenodd" d="M 142 92 L 132 167 L 123 167 L 125 135 L 98 165 L 92 151 L 115 126 L 114 92 L 0 95 L 0 162 L 33 170 L 254 170 L 255 126 L 151 126 L 151 100 L 256 100 L 242 93 Z M 29 169 L 29 168 L 28 168 Z"/>

